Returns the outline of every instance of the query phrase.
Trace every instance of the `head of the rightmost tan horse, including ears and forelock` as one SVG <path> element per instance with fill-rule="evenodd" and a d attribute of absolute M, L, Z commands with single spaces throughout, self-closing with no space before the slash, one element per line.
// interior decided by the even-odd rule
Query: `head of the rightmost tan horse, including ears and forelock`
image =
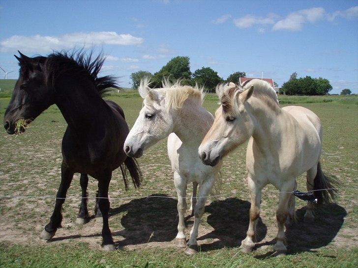
<path fill-rule="evenodd" d="M 253 133 L 254 119 L 247 100 L 254 92 L 254 86 L 241 91 L 230 82 L 216 87 L 220 107 L 215 112 L 215 120 L 205 135 L 199 157 L 206 165 L 216 165 L 223 156 L 245 142 Z"/>

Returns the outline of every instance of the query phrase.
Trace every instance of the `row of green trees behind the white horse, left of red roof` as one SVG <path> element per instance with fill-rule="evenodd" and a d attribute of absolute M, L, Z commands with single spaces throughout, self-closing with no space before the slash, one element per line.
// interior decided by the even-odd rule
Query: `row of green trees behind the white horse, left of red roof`
<path fill-rule="evenodd" d="M 205 86 L 209 92 L 214 92 L 217 84 L 223 82 L 238 83 L 239 78 L 245 76 L 245 72 L 235 72 L 224 80 L 210 67 L 202 67 L 192 73 L 190 71 L 190 58 L 187 56 L 177 56 L 172 58 L 154 74 L 147 71 L 138 71 L 132 73 L 130 79 L 132 88 L 134 89 L 138 88 L 141 79 L 144 77 L 150 77 L 152 87 L 160 87 L 162 85 L 163 77 L 165 77 L 171 82 L 180 79 L 181 84 L 183 85 L 194 86 L 197 83 L 199 86 Z"/>

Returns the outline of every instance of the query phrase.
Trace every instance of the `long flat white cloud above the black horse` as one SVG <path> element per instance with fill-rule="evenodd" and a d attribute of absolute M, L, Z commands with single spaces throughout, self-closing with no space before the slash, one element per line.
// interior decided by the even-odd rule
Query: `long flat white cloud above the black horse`
<path fill-rule="evenodd" d="M 20 50 L 24 52 L 51 52 L 52 50 L 70 49 L 73 47 L 90 47 L 93 45 L 122 45 L 133 46 L 144 42 L 141 37 L 131 34 L 118 34 L 117 32 L 77 32 L 60 36 L 22 36 L 13 35 L 1 41 L 2 51 Z"/>

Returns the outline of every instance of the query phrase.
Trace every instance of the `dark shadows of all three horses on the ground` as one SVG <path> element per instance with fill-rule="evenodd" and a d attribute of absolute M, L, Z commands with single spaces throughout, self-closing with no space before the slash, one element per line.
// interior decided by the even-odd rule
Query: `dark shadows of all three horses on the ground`
<path fill-rule="evenodd" d="M 157 197 L 156 197 L 157 196 Z M 238 198 L 213 201 L 205 207 L 208 224 L 214 229 L 208 234 L 200 234 L 198 241 L 214 240 L 201 245 L 201 251 L 220 249 L 223 247 L 239 247 L 246 237 L 249 224 L 250 203 Z M 295 254 L 328 245 L 340 230 L 347 212 L 341 206 L 330 203 L 315 210 L 315 221 L 303 222 L 306 208 L 297 210 L 298 222 L 286 230 L 288 254 Z M 177 200 L 165 194 L 153 194 L 150 197 L 134 199 L 126 204 L 110 210 L 109 216 L 123 213 L 120 231 L 112 232 L 116 247 L 138 245 L 150 242 L 170 242 L 177 235 L 178 217 Z M 190 219 L 193 221 L 193 219 Z M 186 224 L 188 224 L 188 220 Z M 205 223 L 201 224 L 204 226 Z M 275 225 L 276 226 L 276 225 Z M 272 226 L 274 227 L 274 226 Z M 210 228 L 211 229 L 211 228 Z M 275 232 L 276 228 L 273 228 Z M 267 227 L 259 218 L 257 223 L 257 241 L 262 241 L 267 234 Z M 276 234 L 276 233 L 275 233 Z M 274 236 L 275 234 L 272 234 Z M 58 237 L 52 241 L 81 237 L 100 237 L 101 234 L 88 236 Z M 123 239 L 117 240 L 117 237 Z M 117 240 L 117 241 L 116 241 Z M 271 244 L 258 242 L 257 248 Z M 239 250 L 239 248 L 238 248 Z M 267 258 L 272 252 L 256 255 L 256 258 Z"/>

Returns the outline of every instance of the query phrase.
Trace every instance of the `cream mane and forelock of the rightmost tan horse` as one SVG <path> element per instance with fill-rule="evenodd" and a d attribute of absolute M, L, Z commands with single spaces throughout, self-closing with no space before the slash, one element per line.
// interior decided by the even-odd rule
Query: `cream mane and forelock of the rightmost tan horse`
<path fill-rule="evenodd" d="M 216 93 L 219 96 L 220 104 L 224 107 L 227 112 L 231 108 L 234 108 L 236 112 L 239 111 L 239 103 L 237 101 L 238 95 L 248 90 L 251 86 L 254 86 L 253 96 L 257 98 L 267 100 L 267 103 L 272 103 L 278 106 L 278 98 L 273 87 L 264 80 L 253 79 L 246 81 L 242 86 L 234 83 L 220 84 L 216 87 Z"/>

